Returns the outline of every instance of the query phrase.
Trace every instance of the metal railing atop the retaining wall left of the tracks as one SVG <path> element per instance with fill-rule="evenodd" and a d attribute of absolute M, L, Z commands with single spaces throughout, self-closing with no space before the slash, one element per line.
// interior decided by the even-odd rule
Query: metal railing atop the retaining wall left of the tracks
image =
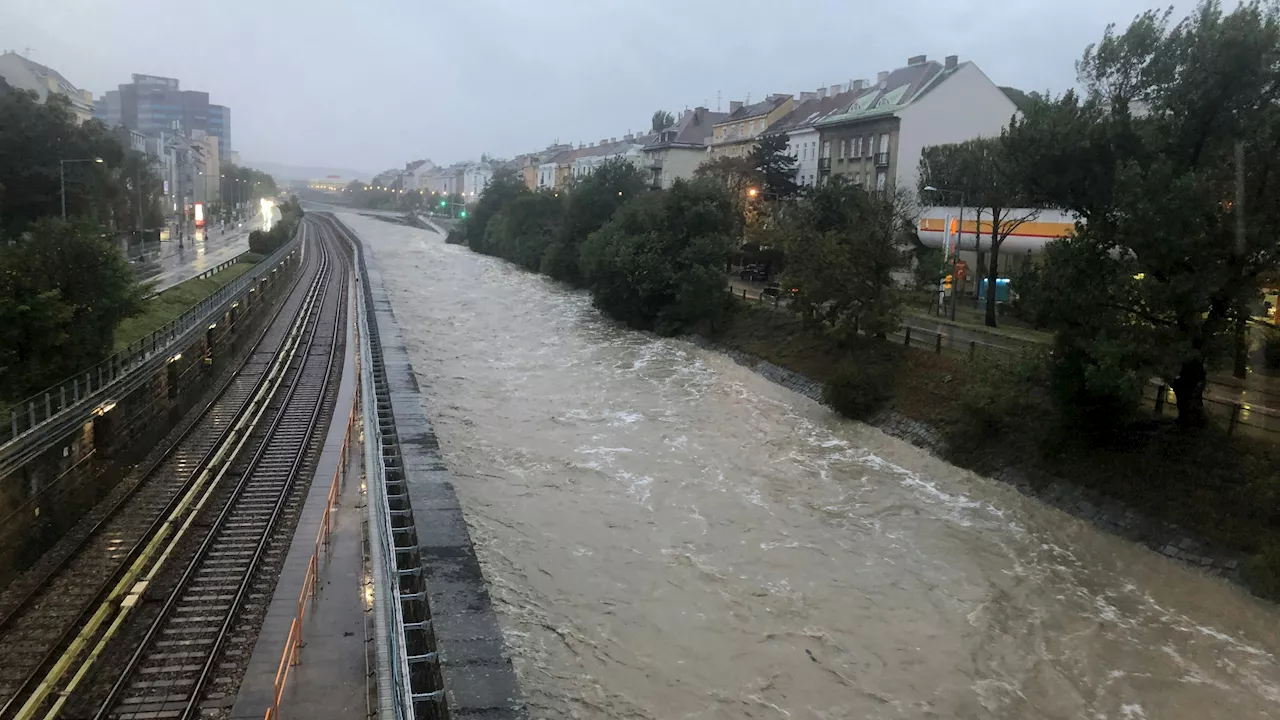
<path fill-rule="evenodd" d="M 256 272 L 244 273 L 224 284 L 177 319 L 170 320 L 147 337 L 129 343 L 124 350 L 114 352 L 97 365 L 15 404 L 9 410 L 9 421 L 3 423 L 3 427 L 0 427 L 0 443 L 3 443 L 0 445 L 0 451 L 3 451 L 4 446 L 36 432 L 41 425 L 63 413 L 81 405 L 88 405 L 90 401 L 105 398 L 106 391 L 127 378 L 147 360 L 168 352 L 174 342 L 182 338 L 188 331 L 207 322 L 210 315 L 220 311 L 227 301 L 238 296 L 246 288 L 257 283 L 266 273 L 271 272 L 275 264 L 292 252 L 297 245 L 298 240 L 294 236 L 293 240 L 282 245 L 275 252 L 255 265 Z"/>

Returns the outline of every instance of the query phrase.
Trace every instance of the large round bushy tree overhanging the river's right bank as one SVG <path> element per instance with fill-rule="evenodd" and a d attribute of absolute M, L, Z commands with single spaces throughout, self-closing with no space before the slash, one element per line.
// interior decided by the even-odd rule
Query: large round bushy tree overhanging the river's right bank
<path fill-rule="evenodd" d="M 726 304 L 731 214 L 724 188 L 709 182 L 677 181 L 634 197 L 582 243 L 595 305 L 659 334 L 714 327 Z"/>

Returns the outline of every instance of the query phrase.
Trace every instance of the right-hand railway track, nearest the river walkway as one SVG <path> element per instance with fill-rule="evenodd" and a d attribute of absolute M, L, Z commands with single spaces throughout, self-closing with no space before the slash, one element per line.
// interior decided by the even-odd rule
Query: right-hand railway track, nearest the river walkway
<path fill-rule="evenodd" d="M 237 665 L 220 662 L 223 651 L 237 634 L 234 644 L 252 642 L 239 615 L 255 585 L 274 583 L 283 561 L 283 553 L 273 557 L 269 548 L 298 505 L 296 491 L 302 489 L 298 480 L 310 477 L 308 461 L 319 455 L 325 400 L 340 363 L 347 275 L 338 254 L 329 255 L 334 261 L 321 270 L 298 360 L 283 375 L 279 401 L 265 409 L 261 437 L 248 438 L 256 450 L 230 465 L 228 479 L 234 478 L 236 487 L 221 510 L 197 520 L 200 546 L 180 575 L 159 582 L 166 600 L 132 655 L 104 676 L 115 680 L 97 701 L 96 717 L 193 717 L 215 680 L 234 679 Z M 161 596 L 159 588 L 151 592 Z M 87 696 L 97 700 L 92 689 Z M 77 716 L 88 715 L 84 702 L 77 708 Z"/>

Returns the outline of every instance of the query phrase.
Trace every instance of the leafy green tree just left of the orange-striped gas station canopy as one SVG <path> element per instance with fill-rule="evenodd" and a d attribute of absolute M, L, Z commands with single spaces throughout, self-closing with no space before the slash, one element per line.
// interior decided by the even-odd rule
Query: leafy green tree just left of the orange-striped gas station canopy
<path fill-rule="evenodd" d="M 833 177 L 799 201 L 781 228 L 785 281 L 799 288 L 792 309 L 852 341 L 883 337 L 899 324 L 893 273 L 908 261 L 899 199 Z"/>

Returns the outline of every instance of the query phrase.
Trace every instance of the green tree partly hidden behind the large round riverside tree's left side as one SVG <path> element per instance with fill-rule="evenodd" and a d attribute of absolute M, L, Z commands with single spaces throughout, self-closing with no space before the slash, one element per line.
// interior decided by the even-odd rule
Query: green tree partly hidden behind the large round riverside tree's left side
<path fill-rule="evenodd" d="M 541 270 L 572 284 L 582 283 L 579 259 L 582 241 L 604 227 L 613 213 L 645 191 L 645 179 L 631 163 L 616 158 L 576 182 L 564 202 L 564 220 L 547 247 Z"/>

